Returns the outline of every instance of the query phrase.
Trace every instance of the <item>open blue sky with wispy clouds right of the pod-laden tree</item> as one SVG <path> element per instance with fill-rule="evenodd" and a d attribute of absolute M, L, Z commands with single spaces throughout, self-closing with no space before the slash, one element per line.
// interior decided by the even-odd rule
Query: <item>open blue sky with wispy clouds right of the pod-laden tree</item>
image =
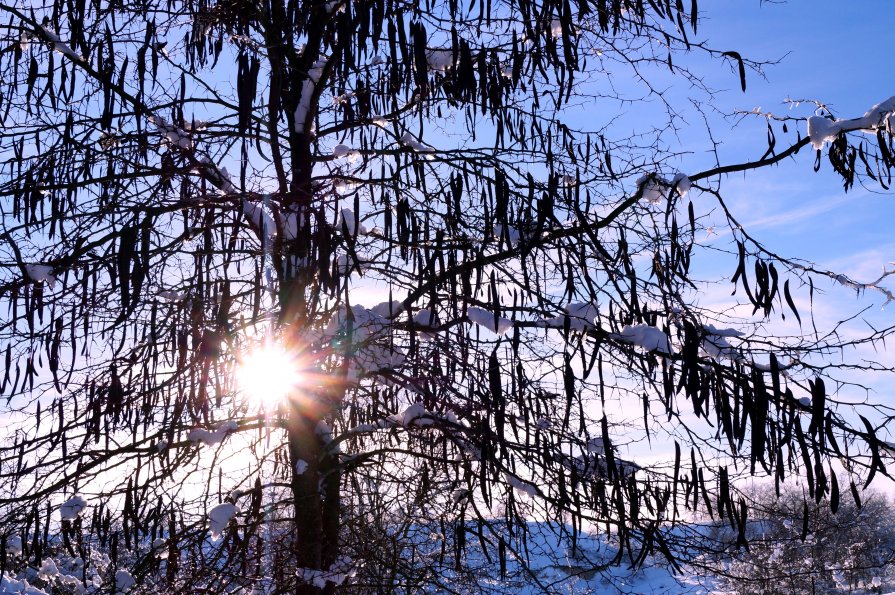
<path fill-rule="evenodd" d="M 718 90 L 711 98 L 703 98 L 706 105 L 717 110 L 710 120 L 722 163 L 754 160 L 767 148 L 767 123 L 763 117 L 722 117 L 738 110 L 760 108 L 762 112 L 794 115 L 801 120 L 798 131 L 805 136 L 805 118 L 813 115 L 813 106 L 802 104 L 791 109 L 785 100 L 818 100 L 828 105 L 839 118 L 853 118 L 864 114 L 873 105 L 895 95 L 895 61 L 891 59 L 891 29 L 895 23 L 895 1 L 870 0 L 859 2 L 791 0 L 787 3 L 759 2 L 758 0 L 699 3 L 703 20 L 700 21 L 698 40 L 706 40 L 718 50 L 735 50 L 744 57 L 761 61 L 779 61 L 764 69 L 764 78 L 748 73 L 747 89 L 740 89 L 739 77 L 729 65 L 717 59 L 691 55 L 676 57 L 676 64 L 688 65 L 706 83 Z M 692 93 L 686 84 L 668 75 L 667 69 L 656 69 L 659 84 L 673 85 L 669 96 L 684 111 L 691 126 L 678 134 L 679 147 L 687 154 L 673 164 L 685 173 L 711 167 L 713 158 L 706 152 L 711 147 L 701 118 L 685 102 Z M 616 83 L 616 85 L 624 83 Z M 620 126 L 638 123 L 649 125 L 661 118 L 656 105 L 635 105 Z M 597 110 L 594 112 L 599 113 Z M 593 113 L 593 112 L 591 112 Z M 569 115 L 572 118 L 578 116 Z M 598 117 L 587 115 L 585 117 Z M 778 150 L 795 142 L 795 130 L 784 136 L 779 124 Z M 666 139 L 666 141 L 675 140 Z M 818 268 L 844 273 L 859 282 L 875 280 L 883 267 L 895 261 L 895 193 L 883 192 L 879 187 L 870 190 L 856 186 L 845 193 L 841 180 L 832 172 L 826 153 L 820 172 L 813 171 L 815 153 L 810 147 L 795 159 L 778 166 L 735 175 L 722 182 L 722 195 L 734 215 L 753 232 L 765 246 L 786 257 L 797 257 L 816 263 Z M 875 190 L 874 190 L 875 189 Z M 693 193 L 690 198 L 697 210 L 712 208 L 710 196 Z M 720 218 L 717 222 L 721 223 Z M 719 227 L 720 231 L 720 227 Z M 718 247 L 726 247 L 730 234 L 721 233 L 712 239 Z M 726 279 L 736 267 L 729 256 L 699 255 L 694 266 L 704 279 Z M 797 284 L 794 283 L 794 288 Z M 895 288 L 895 276 L 883 285 Z M 853 289 L 830 280 L 819 279 L 816 285 L 815 316 L 819 330 L 855 314 L 867 311 L 844 335 L 866 333 L 865 320 L 876 327 L 895 324 L 895 304 L 880 306 L 885 301 L 879 294 L 857 295 Z M 725 281 L 707 286 L 699 300 L 702 305 L 714 305 L 718 311 L 737 300 L 745 301 L 742 289 L 731 297 L 732 285 Z M 796 302 L 805 319 L 808 309 L 807 291 L 794 289 Z M 823 292 L 821 295 L 820 293 Z M 738 309 L 737 314 L 751 315 L 752 308 Z M 759 322 L 756 317 L 753 319 Z M 772 333 L 801 332 L 792 317 L 781 323 L 775 313 L 766 326 Z M 810 327 L 806 325 L 803 330 Z M 884 346 L 874 350 L 870 346 L 845 354 L 849 358 L 866 358 L 895 366 L 895 351 Z M 831 362 L 838 356 L 829 356 Z M 874 388 L 872 401 L 895 405 L 895 377 L 848 373 L 846 379 L 866 383 Z M 835 390 L 833 383 L 828 388 Z M 844 388 L 837 395 L 846 401 L 862 399 L 866 394 L 854 387 Z M 659 447 L 661 449 L 661 447 Z M 637 454 L 640 448 L 635 447 Z M 654 453 L 662 456 L 662 453 Z"/>

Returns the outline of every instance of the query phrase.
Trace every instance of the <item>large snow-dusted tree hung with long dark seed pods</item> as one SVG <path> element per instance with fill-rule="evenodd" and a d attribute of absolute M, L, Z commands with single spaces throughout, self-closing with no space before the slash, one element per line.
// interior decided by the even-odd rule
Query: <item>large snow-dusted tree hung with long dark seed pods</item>
<path fill-rule="evenodd" d="M 725 208 L 725 175 L 808 144 L 846 189 L 886 186 L 895 100 L 815 115 L 804 137 L 764 116 L 759 159 L 673 175 L 663 139 L 682 122 L 655 67 L 694 93 L 693 53 L 744 87 L 762 67 L 691 40 L 695 2 L 0 11 L 8 572 L 58 589 L 485 588 L 465 544 L 524 568 L 531 518 L 564 520 L 573 549 L 614 532 L 616 563 L 678 563 L 688 510 L 744 539 L 742 474 L 801 474 L 836 508 L 833 458 L 855 494 L 886 473 L 881 410 L 855 418 L 825 388 L 846 339 L 744 335 L 688 298 L 688 195 Z M 564 121 L 574 102 L 624 105 L 609 68 L 669 123 L 619 138 L 613 111 Z M 836 274 L 725 212 L 752 314 L 807 324 L 796 285 Z M 237 382 L 292 366 L 264 406 Z M 626 460 L 656 435 L 673 463 Z"/>

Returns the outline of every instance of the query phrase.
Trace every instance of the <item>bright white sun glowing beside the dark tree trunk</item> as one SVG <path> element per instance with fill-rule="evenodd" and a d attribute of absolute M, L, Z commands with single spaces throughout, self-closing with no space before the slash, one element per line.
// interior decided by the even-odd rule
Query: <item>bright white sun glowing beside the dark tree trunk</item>
<path fill-rule="evenodd" d="M 300 362 L 283 345 L 265 341 L 239 359 L 236 381 L 246 399 L 275 405 L 301 385 Z"/>

